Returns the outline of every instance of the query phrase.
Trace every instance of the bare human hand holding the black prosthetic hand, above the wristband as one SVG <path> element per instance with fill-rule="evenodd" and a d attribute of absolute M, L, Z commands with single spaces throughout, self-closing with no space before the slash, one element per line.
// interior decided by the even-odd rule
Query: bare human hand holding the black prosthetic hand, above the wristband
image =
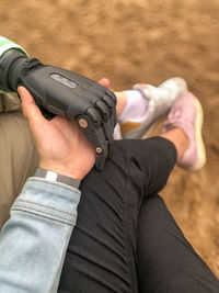
<path fill-rule="evenodd" d="M 30 92 L 23 87 L 18 91 L 39 155 L 39 167 L 83 179 L 94 166 L 95 149 L 77 123 L 60 116 L 47 121 Z"/>

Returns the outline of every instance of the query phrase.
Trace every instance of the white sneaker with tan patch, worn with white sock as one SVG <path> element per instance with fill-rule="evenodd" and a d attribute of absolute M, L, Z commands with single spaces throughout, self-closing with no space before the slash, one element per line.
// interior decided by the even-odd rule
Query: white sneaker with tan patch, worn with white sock
<path fill-rule="evenodd" d="M 175 99 L 187 92 L 187 86 L 182 78 L 171 78 L 158 88 L 135 84 L 134 90 L 140 91 L 142 97 L 148 99 L 148 108 L 140 119 L 120 123 L 123 138 L 141 138 L 154 122 L 168 114 Z"/>

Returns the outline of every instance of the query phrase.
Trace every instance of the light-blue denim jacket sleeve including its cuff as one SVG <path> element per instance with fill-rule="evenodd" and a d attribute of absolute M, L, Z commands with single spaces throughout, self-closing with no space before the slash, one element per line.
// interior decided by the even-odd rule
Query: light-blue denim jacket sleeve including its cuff
<path fill-rule="evenodd" d="M 30 178 L 0 236 L 0 292 L 57 292 L 80 191 Z"/>

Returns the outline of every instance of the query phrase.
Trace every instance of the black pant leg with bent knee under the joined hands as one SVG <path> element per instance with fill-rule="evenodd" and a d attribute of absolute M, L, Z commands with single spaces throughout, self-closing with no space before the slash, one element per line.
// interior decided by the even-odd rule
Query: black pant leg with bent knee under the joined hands
<path fill-rule="evenodd" d="M 93 169 L 81 184 L 59 292 L 138 292 L 138 212 L 145 195 L 165 185 L 175 157 L 160 137 L 113 144 L 104 170 Z"/>

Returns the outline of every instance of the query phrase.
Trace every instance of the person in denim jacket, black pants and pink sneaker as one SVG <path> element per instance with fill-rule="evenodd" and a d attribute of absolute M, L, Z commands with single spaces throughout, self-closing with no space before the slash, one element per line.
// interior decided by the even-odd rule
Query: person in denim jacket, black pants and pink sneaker
<path fill-rule="evenodd" d="M 139 91 L 145 97 L 145 87 Z M 177 94 L 163 133 L 114 142 L 100 172 L 92 168 L 95 150 L 73 121 L 46 121 L 31 94 L 19 92 L 41 169 L 1 234 L 2 292 L 218 292 L 218 280 L 158 194 L 175 164 L 189 170 L 205 164 L 198 100 Z"/>

